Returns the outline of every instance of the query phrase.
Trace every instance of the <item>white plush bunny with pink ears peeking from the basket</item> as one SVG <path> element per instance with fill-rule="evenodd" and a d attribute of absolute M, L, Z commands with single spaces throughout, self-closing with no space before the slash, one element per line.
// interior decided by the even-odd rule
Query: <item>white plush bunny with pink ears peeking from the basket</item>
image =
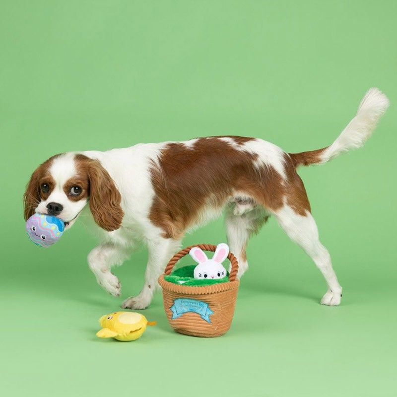
<path fill-rule="evenodd" d="M 227 244 L 218 244 L 212 259 L 208 259 L 199 247 L 193 247 L 189 254 L 199 264 L 193 272 L 195 278 L 215 279 L 226 276 L 226 269 L 221 264 L 229 255 Z"/>

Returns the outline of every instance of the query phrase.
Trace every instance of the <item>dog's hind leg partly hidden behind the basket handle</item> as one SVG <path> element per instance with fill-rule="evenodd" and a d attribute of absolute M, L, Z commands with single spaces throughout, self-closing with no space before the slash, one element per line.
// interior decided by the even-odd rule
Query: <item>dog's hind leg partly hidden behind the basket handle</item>
<path fill-rule="evenodd" d="M 252 234 L 259 232 L 268 214 L 259 206 L 253 206 L 250 211 L 241 215 L 235 209 L 233 204 L 227 208 L 225 224 L 230 252 L 235 255 L 239 263 L 237 277 L 240 278 L 248 269 L 246 253 L 248 240 Z"/>

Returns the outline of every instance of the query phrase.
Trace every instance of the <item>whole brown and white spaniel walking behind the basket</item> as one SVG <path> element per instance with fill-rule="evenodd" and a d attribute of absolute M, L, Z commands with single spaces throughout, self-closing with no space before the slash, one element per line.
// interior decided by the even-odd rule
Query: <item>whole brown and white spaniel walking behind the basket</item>
<path fill-rule="evenodd" d="M 95 221 L 102 240 L 88 255 L 88 264 L 114 296 L 120 296 L 121 286 L 111 267 L 121 265 L 144 242 L 149 257 L 143 289 L 122 305 L 143 309 L 187 231 L 225 210 L 228 243 L 241 277 L 248 268 L 248 239 L 274 215 L 323 273 L 328 290 L 321 303 L 339 305 L 342 288 L 319 241 L 296 168 L 325 163 L 360 147 L 388 105 L 381 91 L 370 89 L 357 115 L 330 146 L 303 153 L 286 153 L 262 139 L 213 136 L 59 154 L 33 173 L 24 196 L 25 219 L 34 212 L 49 213 L 69 229 L 86 212 L 82 219 Z"/>

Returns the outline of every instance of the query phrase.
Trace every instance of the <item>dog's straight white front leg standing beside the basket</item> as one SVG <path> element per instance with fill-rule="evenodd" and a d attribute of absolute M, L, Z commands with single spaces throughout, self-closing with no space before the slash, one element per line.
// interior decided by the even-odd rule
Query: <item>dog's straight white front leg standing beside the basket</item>
<path fill-rule="evenodd" d="M 157 279 L 164 271 L 171 257 L 178 251 L 181 241 L 161 236 L 148 241 L 148 262 L 145 271 L 145 284 L 137 296 L 130 296 L 123 304 L 123 309 L 145 309 L 150 305 L 154 291 L 159 287 Z"/>

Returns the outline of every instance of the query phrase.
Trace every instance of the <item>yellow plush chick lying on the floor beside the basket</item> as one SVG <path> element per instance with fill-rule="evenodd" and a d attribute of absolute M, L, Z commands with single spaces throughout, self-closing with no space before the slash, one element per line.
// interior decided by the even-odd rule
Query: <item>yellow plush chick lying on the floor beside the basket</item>
<path fill-rule="evenodd" d="M 102 316 L 99 324 L 102 330 L 96 333 L 98 337 L 129 341 L 142 336 L 146 326 L 154 326 L 156 322 L 148 322 L 146 317 L 139 313 L 116 312 Z"/>

